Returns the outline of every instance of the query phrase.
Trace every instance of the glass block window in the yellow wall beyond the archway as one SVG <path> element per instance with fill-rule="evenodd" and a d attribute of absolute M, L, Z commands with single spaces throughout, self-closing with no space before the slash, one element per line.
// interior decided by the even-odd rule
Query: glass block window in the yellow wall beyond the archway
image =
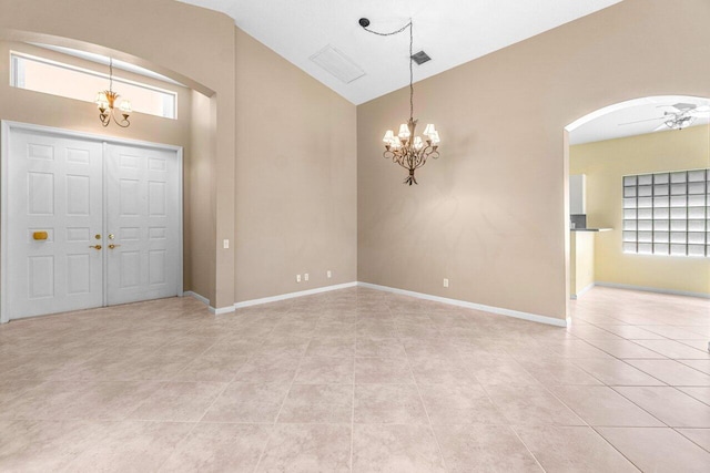
<path fill-rule="evenodd" d="M 623 253 L 710 257 L 710 169 L 623 176 Z"/>

